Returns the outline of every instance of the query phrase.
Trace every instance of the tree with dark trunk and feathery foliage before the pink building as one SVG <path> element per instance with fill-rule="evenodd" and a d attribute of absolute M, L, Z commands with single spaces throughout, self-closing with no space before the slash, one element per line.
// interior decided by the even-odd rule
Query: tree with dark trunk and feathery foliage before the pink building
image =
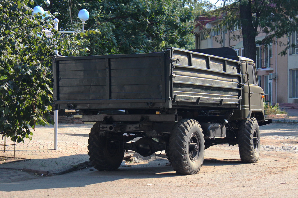
<path fill-rule="evenodd" d="M 220 0 L 221 1 L 221 0 Z M 298 31 L 298 1 L 297 0 L 222 0 L 225 7 L 212 10 L 217 13 L 221 27 L 231 28 L 235 23 L 241 24 L 244 56 L 256 59 L 255 38 L 258 34 L 268 35 L 257 44 L 276 42 L 276 38 L 290 37 L 293 31 Z M 223 17 L 223 13 L 226 15 Z M 282 55 L 287 53 L 290 43 L 277 43 L 284 46 Z"/>

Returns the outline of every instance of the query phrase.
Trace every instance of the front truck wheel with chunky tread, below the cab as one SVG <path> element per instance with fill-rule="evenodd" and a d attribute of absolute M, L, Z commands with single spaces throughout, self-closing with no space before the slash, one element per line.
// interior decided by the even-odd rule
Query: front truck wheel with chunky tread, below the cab
<path fill-rule="evenodd" d="M 260 129 L 256 118 L 241 121 L 238 127 L 240 159 L 245 163 L 255 163 L 260 156 Z"/>

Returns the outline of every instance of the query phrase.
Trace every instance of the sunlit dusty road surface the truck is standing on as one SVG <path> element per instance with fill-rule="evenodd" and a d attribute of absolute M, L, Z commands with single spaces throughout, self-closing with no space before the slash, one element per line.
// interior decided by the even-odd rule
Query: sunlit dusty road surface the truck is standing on
<path fill-rule="evenodd" d="M 166 159 L 84 169 L 60 176 L 0 185 L 1 197 L 298 197 L 298 124 L 261 126 L 260 160 L 240 161 L 237 146 L 205 151 L 196 175 L 177 175 Z"/>

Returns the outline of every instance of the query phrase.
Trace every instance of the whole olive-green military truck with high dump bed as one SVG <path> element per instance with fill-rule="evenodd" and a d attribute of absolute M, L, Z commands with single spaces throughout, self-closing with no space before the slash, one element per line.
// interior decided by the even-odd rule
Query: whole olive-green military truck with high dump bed
<path fill-rule="evenodd" d="M 97 170 L 117 169 L 125 150 L 165 151 L 179 174 L 195 174 L 204 150 L 239 145 L 255 163 L 264 92 L 255 63 L 231 48 L 54 57 L 55 109 L 79 110 L 96 122 L 88 154 Z"/>

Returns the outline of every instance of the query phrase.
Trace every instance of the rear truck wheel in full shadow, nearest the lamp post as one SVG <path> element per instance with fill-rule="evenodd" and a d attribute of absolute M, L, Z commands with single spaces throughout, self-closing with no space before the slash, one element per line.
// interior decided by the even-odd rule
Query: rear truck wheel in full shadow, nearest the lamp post
<path fill-rule="evenodd" d="M 90 162 L 97 170 L 117 170 L 122 162 L 124 150 L 117 148 L 110 138 L 99 135 L 99 131 L 99 124 L 95 123 L 88 140 Z"/>

